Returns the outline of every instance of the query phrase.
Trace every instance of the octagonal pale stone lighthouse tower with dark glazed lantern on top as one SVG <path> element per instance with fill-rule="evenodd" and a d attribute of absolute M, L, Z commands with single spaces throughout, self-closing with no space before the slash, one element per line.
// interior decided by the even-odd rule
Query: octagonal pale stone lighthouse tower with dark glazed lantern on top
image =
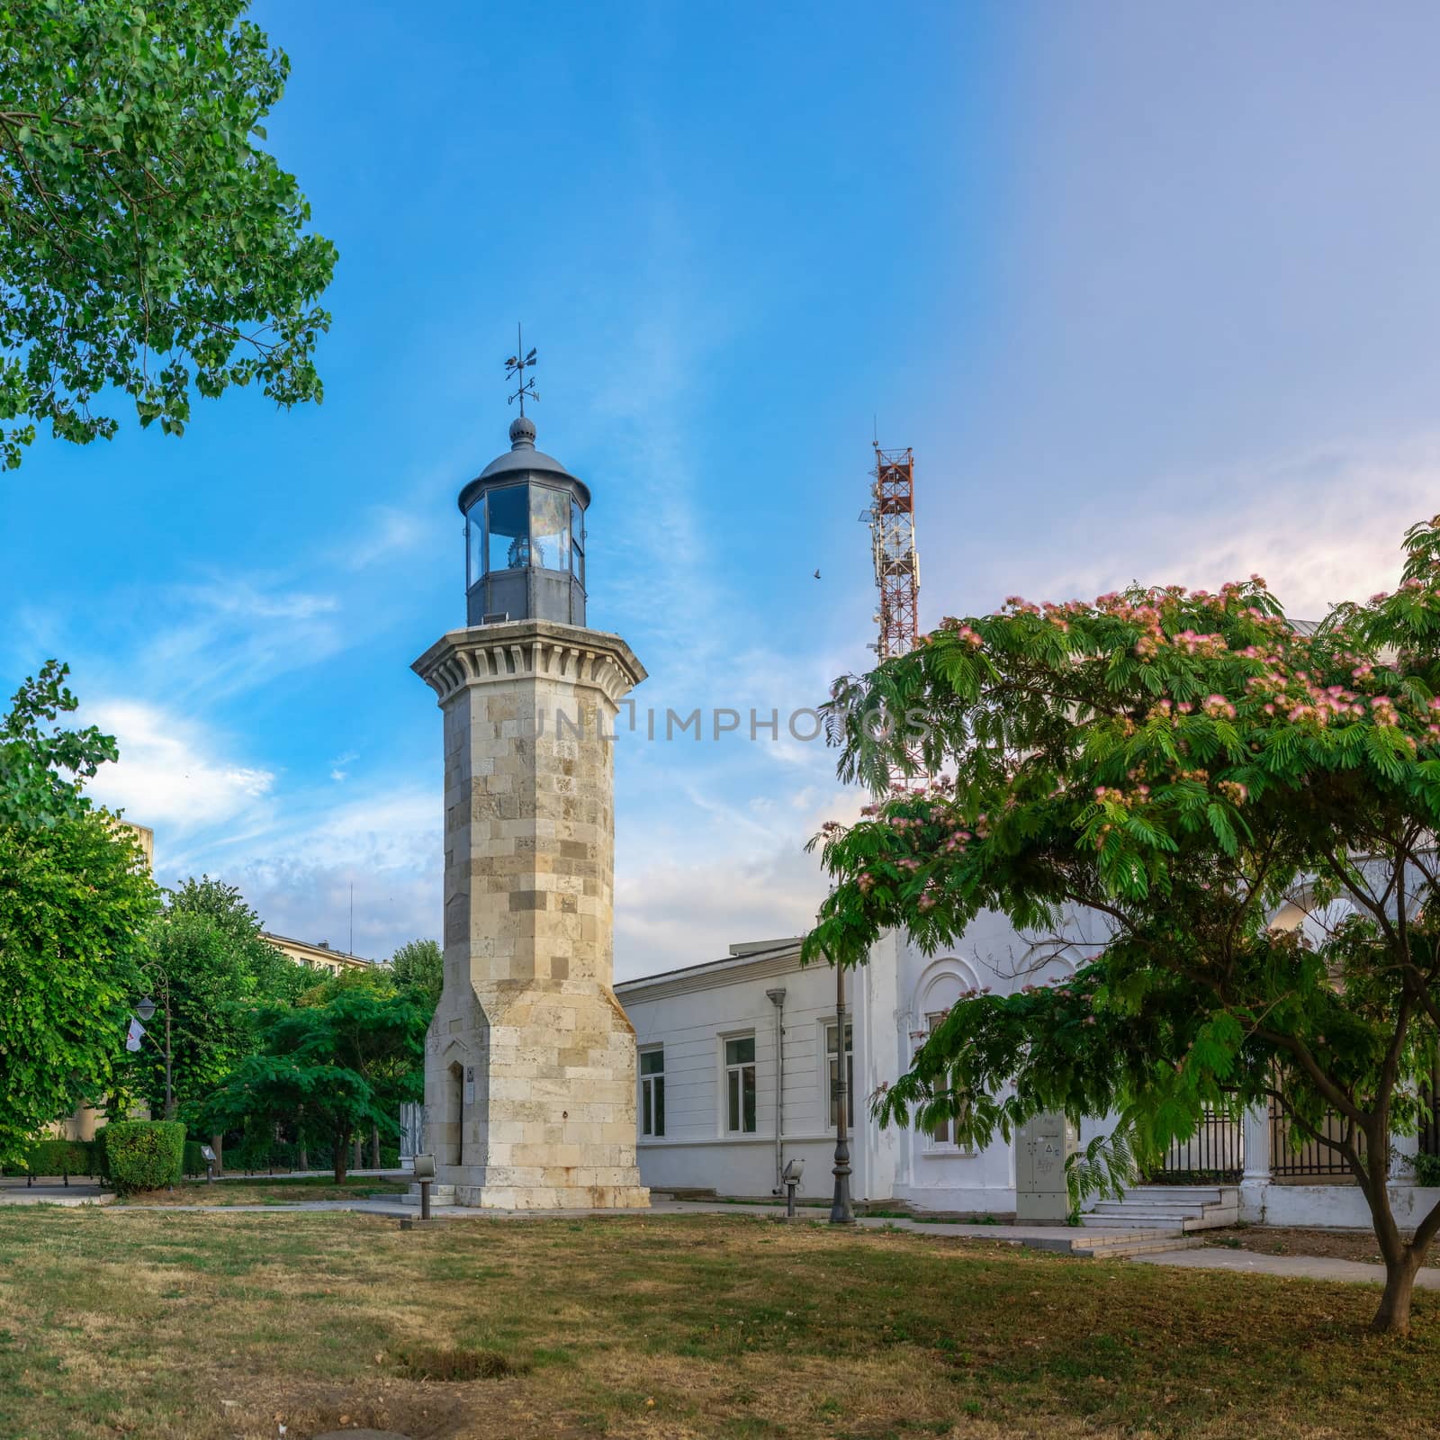
<path fill-rule="evenodd" d="M 645 671 L 586 625 L 589 490 L 523 412 L 510 441 L 459 494 L 467 626 L 413 667 L 445 726 L 426 1145 L 439 1198 L 461 1205 L 648 1205 L 635 1031 L 611 988 L 612 736 Z"/>

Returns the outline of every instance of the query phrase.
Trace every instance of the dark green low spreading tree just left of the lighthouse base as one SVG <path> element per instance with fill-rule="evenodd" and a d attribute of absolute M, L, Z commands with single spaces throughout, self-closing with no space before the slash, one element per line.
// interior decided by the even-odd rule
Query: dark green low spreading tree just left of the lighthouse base
<path fill-rule="evenodd" d="M 399 1104 L 423 1094 L 428 1024 L 412 998 L 367 988 L 269 1011 L 261 1053 L 210 1097 L 206 1120 L 217 1130 L 259 1132 L 266 1146 L 276 1125 L 297 1125 L 304 1139 L 328 1143 L 341 1181 L 353 1138 L 372 1128 L 393 1135 Z"/>

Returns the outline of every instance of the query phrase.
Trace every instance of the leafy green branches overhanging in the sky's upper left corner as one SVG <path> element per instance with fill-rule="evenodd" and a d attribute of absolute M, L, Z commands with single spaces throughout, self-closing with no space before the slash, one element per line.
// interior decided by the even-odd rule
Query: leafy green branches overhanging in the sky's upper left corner
<path fill-rule="evenodd" d="M 318 400 L 336 249 L 256 141 L 289 62 L 245 0 L 9 0 L 0 24 L 0 464 L 48 420 L 109 438 L 131 396 L 180 435 L 192 395 Z"/>

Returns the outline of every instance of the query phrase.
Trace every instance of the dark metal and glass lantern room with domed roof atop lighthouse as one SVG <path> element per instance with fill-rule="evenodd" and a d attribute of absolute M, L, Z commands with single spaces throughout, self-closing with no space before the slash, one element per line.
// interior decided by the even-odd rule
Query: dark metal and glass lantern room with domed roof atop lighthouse
<path fill-rule="evenodd" d="M 589 504 L 589 490 L 536 449 L 534 422 L 524 415 L 514 420 L 510 449 L 459 494 L 467 624 L 583 625 Z"/>

